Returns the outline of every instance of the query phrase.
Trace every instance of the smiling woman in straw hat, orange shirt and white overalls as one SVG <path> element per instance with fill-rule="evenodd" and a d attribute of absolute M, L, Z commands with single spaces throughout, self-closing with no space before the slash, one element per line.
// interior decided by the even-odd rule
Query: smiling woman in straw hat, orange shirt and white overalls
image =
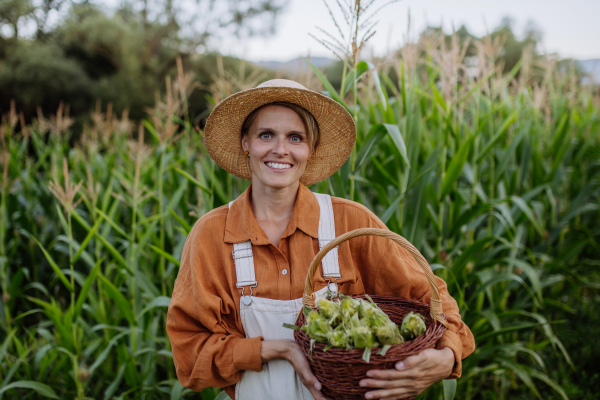
<path fill-rule="evenodd" d="M 183 386 L 224 387 L 236 400 L 325 399 L 282 324 L 294 323 L 308 267 L 323 245 L 353 229 L 387 229 L 364 206 L 305 187 L 340 168 L 355 138 L 341 105 L 288 80 L 236 93 L 213 110 L 205 130 L 209 155 L 252 184 L 200 218 L 185 243 L 167 319 Z M 373 236 L 329 252 L 315 281 L 317 295 L 329 287 L 347 295 L 430 298 L 412 256 Z M 394 370 L 369 371 L 360 382 L 373 388 L 366 398 L 405 398 L 460 376 L 473 336 L 439 278 L 438 286 L 449 328 L 437 348 Z"/>

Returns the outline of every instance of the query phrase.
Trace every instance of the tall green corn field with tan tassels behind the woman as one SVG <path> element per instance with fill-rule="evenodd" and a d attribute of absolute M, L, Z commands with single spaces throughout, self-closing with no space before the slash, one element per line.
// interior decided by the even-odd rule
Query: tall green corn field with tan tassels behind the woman
<path fill-rule="evenodd" d="M 577 367 L 555 328 L 600 288 L 600 95 L 552 60 L 502 73 L 499 44 L 476 45 L 470 60 L 441 38 L 349 63 L 339 90 L 315 68 L 308 84 L 358 136 L 311 189 L 366 205 L 447 281 L 477 342 L 456 398 L 567 399 L 546 364 Z M 240 74 L 212 97 L 258 81 Z M 194 87 L 180 65 L 139 124 L 100 105 L 77 131 L 66 106 L 4 115 L 0 399 L 218 395 L 178 383 L 165 330 L 190 227 L 248 185 L 207 156 Z"/>

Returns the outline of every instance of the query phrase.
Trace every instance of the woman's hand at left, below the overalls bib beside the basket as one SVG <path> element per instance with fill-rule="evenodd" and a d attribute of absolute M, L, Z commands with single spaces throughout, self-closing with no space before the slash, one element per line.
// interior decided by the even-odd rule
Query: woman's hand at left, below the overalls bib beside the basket
<path fill-rule="evenodd" d="M 327 400 L 321 393 L 321 384 L 312 373 L 304 352 L 293 340 L 265 340 L 262 342 L 260 356 L 263 362 L 278 358 L 287 360 L 315 400 Z"/>

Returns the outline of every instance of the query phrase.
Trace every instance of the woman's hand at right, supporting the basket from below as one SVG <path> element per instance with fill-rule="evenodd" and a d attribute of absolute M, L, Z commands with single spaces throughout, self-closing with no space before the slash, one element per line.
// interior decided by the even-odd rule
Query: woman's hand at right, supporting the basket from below
<path fill-rule="evenodd" d="M 454 367 L 454 352 L 449 347 L 427 349 L 396 363 L 396 369 L 367 371 L 360 386 L 378 388 L 367 392 L 367 399 L 404 399 L 417 396 L 437 381 L 446 378 Z"/>

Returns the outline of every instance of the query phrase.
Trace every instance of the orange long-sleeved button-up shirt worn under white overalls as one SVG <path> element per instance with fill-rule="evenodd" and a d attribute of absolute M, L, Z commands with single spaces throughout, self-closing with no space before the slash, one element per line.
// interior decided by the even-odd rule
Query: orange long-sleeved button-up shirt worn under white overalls
<path fill-rule="evenodd" d="M 167 316 L 167 332 L 181 384 L 195 391 L 225 387 L 233 398 L 234 385 L 244 370 L 260 372 L 261 337 L 246 339 L 240 320 L 241 289 L 236 287 L 232 243 L 250 240 L 258 286 L 253 295 L 277 300 L 302 297 L 308 267 L 319 251 L 319 203 L 300 185 L 294 211 L 279 246 L 260 228 L 250 207 L 251 186 L 229 209 L 226 205 L 200 218 L 190 232 Z M 383 228 L 371 211 L 353 201 L 332 197 L 335 233 L 357 228 Z M 395 242 L 362 236 L 338 250 L 340 292 L 380 294 L 429 302 L 425 274 L 408 251 Z M 283 271 L 287 270 L 287 273 Z M 319 269 L 318 271 L 321 271 Z M 449 378 L 461 374 L 461 360 L 475 348 L 473 335 L 462 322 L 446 283 L 437 278 L 448 329 L 437 348 L 449 347 L 455 365 Z M 320 274 L 314 290 L 326 285 Z M 245 294 L 249 294 L 246 289 Z"/>

